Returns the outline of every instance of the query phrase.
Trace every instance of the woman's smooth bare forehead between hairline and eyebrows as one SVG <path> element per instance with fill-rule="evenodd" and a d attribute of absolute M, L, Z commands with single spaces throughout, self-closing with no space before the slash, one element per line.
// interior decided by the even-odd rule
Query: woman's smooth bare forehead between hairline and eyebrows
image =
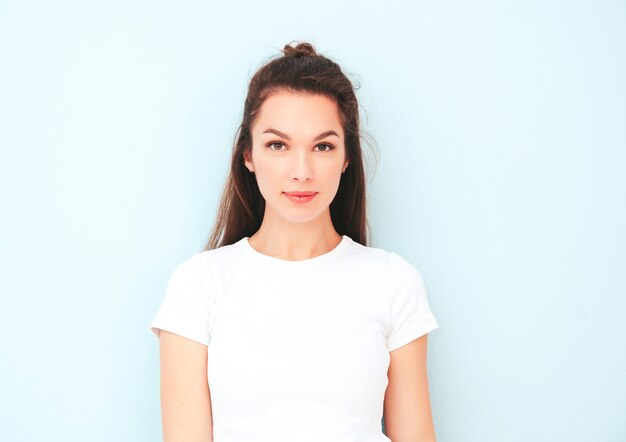
<path fill-rule="evenodd" d="M 255 131 L 268 127 L 287 133 L 315 133 L 341 130 L 339 108 L 334 100 L 325 95 L 276 92 L 270 95 L 257 115 Z"/>

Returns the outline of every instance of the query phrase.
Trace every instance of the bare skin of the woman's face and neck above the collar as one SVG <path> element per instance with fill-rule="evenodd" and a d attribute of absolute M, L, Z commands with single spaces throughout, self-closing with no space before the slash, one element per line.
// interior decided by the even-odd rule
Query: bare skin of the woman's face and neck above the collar
<path fill-rule="evenodd" d="M 265 133 L 268 129 L 286 137 Z M 328 131 L 338 136 L 315 140 Z M 261 227 L 249 238 L 250 245 L 266 255 L 294 261 L 333 249 L 341 235 L 333 227 L 329 206 L 341 172 L 348 167 L 335 102 L 321 95 L 271 95 L 252 126 L 252 140 L 252 152 L 244 155 L 245 166 L 256 176 L 265 213 Z M 294 204 L 284 195 L 293 191 L 318 194 L 307 204 Z"/>

